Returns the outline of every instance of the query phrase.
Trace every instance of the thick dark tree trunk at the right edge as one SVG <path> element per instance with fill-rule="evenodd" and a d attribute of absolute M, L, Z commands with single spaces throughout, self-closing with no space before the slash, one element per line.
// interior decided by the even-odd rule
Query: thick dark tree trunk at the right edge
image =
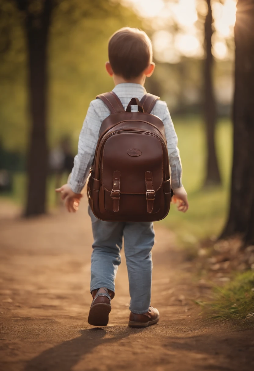
<path fill-rule="evenodd" d="M 231 202 L 221 238 L 254 244 L 254 0 L 238 0 L 235 23 L 234 154 Z"/>

